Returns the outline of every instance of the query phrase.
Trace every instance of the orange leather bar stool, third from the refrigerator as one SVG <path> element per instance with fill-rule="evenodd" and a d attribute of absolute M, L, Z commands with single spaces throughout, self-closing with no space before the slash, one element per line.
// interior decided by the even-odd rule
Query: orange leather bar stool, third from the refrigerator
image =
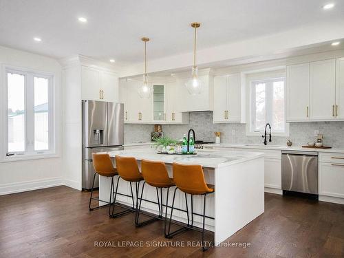
<path fill-rule="evenodd" d="M 141 171 L 144 178 L 144 183 L 142 185 L 142 190 L 141 190 L 141 195 L 140 195 L 140 204 L 138 205 L 138 209 L 136 211 L 136 221 L 135 221 L 136 226 L 143 226 L 151 222 L 154 222 L 157 219 L 162 219 L 162 215 L 163 215 L 162 189 L 167 189 L 167 195 L 166 195 L 166 212 L 167 212 L 167 204 L 169 200 L 169 189 L 171 186 L 175 185 L 173 180 L 169 178 L 169 173 L 167 173 L 167 169 L 164 162 L 142 160 Z M 157 217 L 153 217 L 152 219 L 148 219 L 144 222 L 139 222 L 139 216 L 140 216 L 140 213 L 142 213 L 142 211 L 140 211 L 141 202 L 142 202 L 142 194 L 144 190 L 144 184 L 146 183 L 149 184 L 150 186 L 155 187 L 156 189 L 156 196 L 158 197 L 159 215 Z M 160 189 L 160 198 L 159 198 L 158 189 Z M 149 215 L 147 213 L 144 213 L 144 214 Z M 165 213 L 165 218 L 166 218 L 166 213 Z M 166 236 L 166 231 L 165 231 L 165 236 Z"/>

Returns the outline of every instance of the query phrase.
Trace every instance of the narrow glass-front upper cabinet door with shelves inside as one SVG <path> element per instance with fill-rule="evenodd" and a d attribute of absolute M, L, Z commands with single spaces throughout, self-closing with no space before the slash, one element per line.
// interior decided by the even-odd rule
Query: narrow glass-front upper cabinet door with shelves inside
<path fill-rule="evenodd" d="M 166 120 L 166 87 L 164 83 L 153 83 L 152 118 L 153 121 Z"/>

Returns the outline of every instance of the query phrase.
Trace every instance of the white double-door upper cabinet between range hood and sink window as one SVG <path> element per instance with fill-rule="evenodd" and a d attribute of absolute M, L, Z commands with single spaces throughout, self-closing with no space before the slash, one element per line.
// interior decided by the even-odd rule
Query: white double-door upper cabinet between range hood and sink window
<path fill-rule="evenodd" d="M 214 122 L 240 122 L 240 74 L 214 77 Z"/>

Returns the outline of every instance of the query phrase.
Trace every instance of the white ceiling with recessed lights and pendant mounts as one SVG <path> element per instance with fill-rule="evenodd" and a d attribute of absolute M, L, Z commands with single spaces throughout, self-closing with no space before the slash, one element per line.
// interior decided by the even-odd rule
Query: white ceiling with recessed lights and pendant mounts
<path fill-rule="evenodd" d="M 327 0 L 0 0 L 0 45 L 56 58 L 83 54 L 119 63 L 151 60 L 344 19 L 344 1 Z M 78 21 L 86 17 L 87 23 Z M 40 37 L 35 42 L 33 37 Z M 289 39 L 292 40 L 292 39 Z"/>

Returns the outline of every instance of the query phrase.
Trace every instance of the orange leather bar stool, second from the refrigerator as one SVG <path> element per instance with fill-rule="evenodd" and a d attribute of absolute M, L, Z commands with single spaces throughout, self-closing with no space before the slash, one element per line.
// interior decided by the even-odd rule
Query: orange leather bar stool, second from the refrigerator
<path fill-rule="evenodd" d="M 116 155 L 115 160 L 116 160 L 116 169 L 117 169 L 119 176 L 118 176 L 118 180 L 117 180 L 117 184 L 116 184 L 116 190 L 113 191 L 114 207 L 112 208 L 112 213 L 110 214 L 110 217 L 118 217 L 122 214 L 136 211 L 136 209 L 138 207 L 138 189 L 140 187 L 140 182 L 143 181 L 140 170 L 138 169 L 138 162 L 136 162 L 135 158 L 133 158 L 133 157 L 120 157 L 120 156 Z M 129 184 L 130 184 L 131 195 L 129 197 L 131 197 L 131 200 L 133 202 L 133 206 L 132 206 L 132 208 L 127 208 L 127 211 L 114 213 L 115 206 L 116 206 L 118 183 L 120 182 L 120 178 L 122 178 L 122 180 L 129 182 Z M 136 187 L 136 204 L 133 200 L 133 186 L 131 185 L 131 183 L 133 183 L 133 182 L 135 182 L 135 187 Z M 110 204 L 110 206 L 111 206 L 111 204 Z M 120 206 L 120 205 L 118 205 L 118 206 Z"/>

